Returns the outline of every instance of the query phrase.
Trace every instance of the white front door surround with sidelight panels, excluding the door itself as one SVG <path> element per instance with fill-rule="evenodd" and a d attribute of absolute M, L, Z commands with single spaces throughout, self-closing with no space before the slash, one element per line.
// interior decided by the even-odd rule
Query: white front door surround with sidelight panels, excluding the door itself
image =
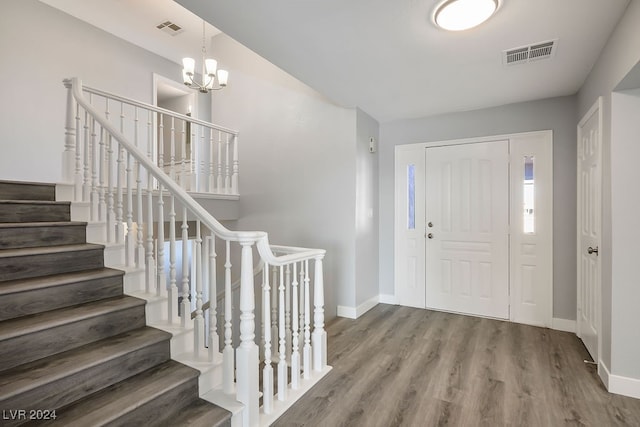
<path fill-rule="evenodd" d="M 512 167 L 505 175 L 510 193 L 507 193 L 507 224 L 512 223 L 510 244 L 505 255 L 508 263 L 508 301 L 510 320 L 538 326 L 551 326 L 553 307 L 553 176 L 552 176 L 552 131 L 525 132 L 519 134 L 499 135 L 492 137 L 468 138 L 452 141 L 438 141 L 421 144 L 398 145 L 395 148 L 395 233 L 394 233 L 394 286 L 398 304 L 422 307 L 432 307 L 427 304 L 426 278 L 427 254 L 426 247 L 429 232 L 434 238 L 441 237 L 434 229 L 439 222 L 433 222 L 434 227 L 428 227 L 426 216 L 426 149 L 441 146 L 461 147 L 479 143 L 508 141 L 509 161 Z M 463 149 L 464 150 L 464 149 Z M 535 233 L 522 236 L 521 229 L 513 230 L 515 223 L 522 224 L 522 190 L 523 175 L 514 164 L 523 156 L 535 158 Z M 514 163 L 515 162 L 515 163 Z M 408 228 L 408 167 L 414 166 L 415 172 L 415 228 Z M 422 175 L 421 175 L 422 173 Z M 486 172 L 484 172 L 486 174 Z M 421 190 L 422 186 L 422 190 Z M 515 215 L 515 217 L 514 217 Z M 431 228 L 431 230 L 430 230 Z M 438 232 L 439 233 L 439 232 Z M 437 237 L 436 237 L 437 236 Z M 432 239 L 434 240 L 434 239 Z M 422 262 L 420 262 L 422 261 Z M 465 266 L 465 268 L 467 268 Z M 485 264 L 482 268 L 487 268 Z M 516 274 L 517 273 L 517 274 Z M 460 274 L 457 272 L 456 274 Z M 421 286 L 422 285 L 422 286 Z M 442 309 L 461 312 L 460 309 Z M 509 310 L 509 309 L 508 309 Z M 477 313 L 472 310 L 469 313 Z M 498 315 L 478 314 L 481 316 L 509 318 L 503 310 Z"/>

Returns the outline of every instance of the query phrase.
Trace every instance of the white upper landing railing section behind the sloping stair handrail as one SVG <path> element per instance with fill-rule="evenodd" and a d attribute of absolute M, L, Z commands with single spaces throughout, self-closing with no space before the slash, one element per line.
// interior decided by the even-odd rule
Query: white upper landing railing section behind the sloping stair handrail
<path fill-rule="evenodd" d="M 238 195 L 237 131 L 88 86 L 82 91 L 89 104 L 182 189 Z"/>

